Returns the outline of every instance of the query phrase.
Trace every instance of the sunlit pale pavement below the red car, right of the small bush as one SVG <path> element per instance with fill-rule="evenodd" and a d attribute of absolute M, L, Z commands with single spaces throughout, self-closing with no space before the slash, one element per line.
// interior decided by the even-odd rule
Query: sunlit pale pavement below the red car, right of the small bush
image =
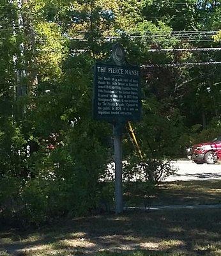
<path fill-rule="evenodd" d="M 175 161 L 174 166 L 178 167 L 179 171 L 165 181 L 221 179 L 221 164 L 195 164 L 189 160 Z"/>

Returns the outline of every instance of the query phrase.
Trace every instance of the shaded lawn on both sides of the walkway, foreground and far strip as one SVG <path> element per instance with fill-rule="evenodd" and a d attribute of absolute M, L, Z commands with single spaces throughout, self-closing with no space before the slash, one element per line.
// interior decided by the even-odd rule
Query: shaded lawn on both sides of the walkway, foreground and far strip
<path fill-rule="evenodd" d="M 219 200 L 219 182 L 173 182 L 160 184 L 153 202 Z M 0 255 L 221 256 L 220 230 L 221 209 L 109 213 L 54 221 L 35 230 L 1 227 Z"/>

